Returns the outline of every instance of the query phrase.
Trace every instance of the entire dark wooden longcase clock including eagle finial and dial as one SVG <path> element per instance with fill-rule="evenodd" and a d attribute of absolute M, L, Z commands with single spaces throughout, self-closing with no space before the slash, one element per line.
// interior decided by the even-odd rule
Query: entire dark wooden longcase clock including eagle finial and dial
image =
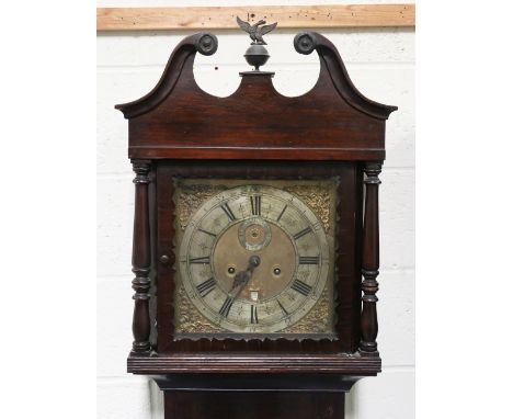
<path fill-rule="evenodd" d="M 117 105 L 136 172 L 134 343 L 128 372 L 151 375 L 171 418 L 343 418 L 344 395 L 381 367 L 377 350 L 378 185 L 385 121 L 324 36 L 299 33 L 320 73 L 286 98 L 261 70 L 249 25 L 228 98 L 194 80 L 198 33 L 155 89 Z"/>

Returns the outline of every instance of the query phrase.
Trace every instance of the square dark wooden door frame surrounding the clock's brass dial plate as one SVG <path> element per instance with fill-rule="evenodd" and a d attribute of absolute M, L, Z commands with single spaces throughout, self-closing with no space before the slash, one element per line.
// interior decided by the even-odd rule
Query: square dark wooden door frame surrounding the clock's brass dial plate
<path fill-rule="evenodd" d="M 361 310 L 361 233 L 363 183 L 358 162 L 305 161 L 213 161 L 204 167 L 189 160 L 162 160 L 156 165 L 156 195 L 152 229 L 156 231 L 156 252 L 169 256 L 169 263 L 156 263 L 152 275 L 158 281 L 159 295 L 152 298 L 150 312 L 156 314 L 157 327 L 152 340 L 159 353 L 189 351 L 263 351 L 301 352 L 320 350 L 331 353 L 354 352 L 360 342 Z M 276 341 L 267 335 L 251 335 L 233 339 L 229 335 L 214 333 L 198 339 L 176 339 L 174 333 L 175 217 L 173 201 L 175 179 L 238 179 L 251 180 L 327 180 L 338 179 L 335 217 L 335 278 L 334 278 L 334 337 L 289 336 Z M 342 199 L 341 199 L 342 197 Z M 273 343 L 273 342 L 276 342 Z"/>

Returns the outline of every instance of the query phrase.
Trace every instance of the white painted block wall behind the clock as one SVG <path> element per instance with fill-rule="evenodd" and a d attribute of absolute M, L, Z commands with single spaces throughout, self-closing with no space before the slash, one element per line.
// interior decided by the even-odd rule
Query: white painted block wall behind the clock
<path fill-rule="evenodd" d="M 339 1 L 265 1 L 267 4 Z M 352 3 L 364 1 L 351 1 Z M 373 1 L 387 2 L 387 1 Z M 398 2 L 398 1 L 396 1 Z M 248 1 L 156 1 L 151 5 L 244 4 Z M 99 7 L 147 5 L 144 1 L 98 2 Z M 206 91 L 228 95 L 247 70 L 246 34 L 213 31 L 218 52 L 198 55 L 195 75 Z M 286 95 L 315 83 L 317 56 L 295 53 L 299 31 L 267 35 L 276 89 Z M 355 86 L 369 99 L 399 106 L 387 123 L 387 160 L 381 174 L 381 269 L 378 278 L 379 350 L 384 371 L 362 380 L 347 396 L 347 419 L 414 417 L 414 31 L 321 30 L 339 48 Z M 114 104 L 153 88 L 168 57 L 192 32 L 98 35 L 98 418 L 161 417 L 161 397 L 145 377 L 126 373 L 132 346 L 130 244 L 133 173 L 127 159 L 127 122 Z M 218 69 L 216 70 L 215 67 Z"/>

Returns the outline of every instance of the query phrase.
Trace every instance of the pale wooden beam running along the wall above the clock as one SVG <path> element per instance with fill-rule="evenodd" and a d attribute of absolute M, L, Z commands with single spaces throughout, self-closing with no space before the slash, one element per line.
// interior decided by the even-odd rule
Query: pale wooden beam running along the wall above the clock
<path fill-rule="evenodd" d="M 98 8 L 96 31 L 228 30 L 236 16 L 281 29 L 414 26 L 415 4 Z"/>

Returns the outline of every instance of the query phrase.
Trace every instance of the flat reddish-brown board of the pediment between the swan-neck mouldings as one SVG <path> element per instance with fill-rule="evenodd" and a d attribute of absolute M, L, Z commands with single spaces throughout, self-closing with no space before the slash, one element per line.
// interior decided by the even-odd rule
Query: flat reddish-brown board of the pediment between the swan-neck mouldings
<path fill-rule="evenodd" d="M 246 75 L 231 97 L 217 98 L 197 87 L 193 60 L 187 58 L 183 76 L 162 104 L 130 120 L 130 147 L 148 147 L 150 141 L 155 148 L 174 147 L 176 154 L 178 147 L 205 145 L 210 150 L 229 147 L 232 152 L 255 145 L 295 154 L 316 148 L 384 149 L 385 122 L 341 99 L 323 66 L 317 86 L 303 97 L 283 97 L 271 75 L 255 73 Z"/>

